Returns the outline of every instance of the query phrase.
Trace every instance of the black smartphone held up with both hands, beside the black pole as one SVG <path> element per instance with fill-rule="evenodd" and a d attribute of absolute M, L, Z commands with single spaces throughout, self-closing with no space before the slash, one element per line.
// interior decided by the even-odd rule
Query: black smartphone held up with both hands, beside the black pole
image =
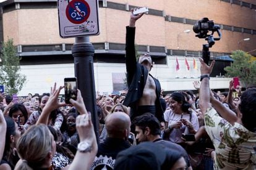
<path fill-rule="evenodd" d="M 77 78 L 64 78 L 65 102 L 70 104 L 69 100 L 77 100 Z"/>

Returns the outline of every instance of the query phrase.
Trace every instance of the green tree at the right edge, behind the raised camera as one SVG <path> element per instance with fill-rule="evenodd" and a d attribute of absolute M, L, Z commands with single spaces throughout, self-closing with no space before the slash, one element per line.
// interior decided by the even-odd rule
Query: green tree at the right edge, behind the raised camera
<path fill-rule="evenodd" d="M 247 88 L 256 85 L 256 61 L 252 55 L 244 51 L 234 51 L 231 55 L 234 62 L 224 68 L 226 76 L 239 77 L 241 83 Z"/>

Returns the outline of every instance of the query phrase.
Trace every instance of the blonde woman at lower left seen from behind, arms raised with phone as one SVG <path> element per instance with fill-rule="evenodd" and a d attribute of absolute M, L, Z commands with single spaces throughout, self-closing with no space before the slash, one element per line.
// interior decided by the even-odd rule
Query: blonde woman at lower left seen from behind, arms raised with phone
<path fill-rule="evenodd" d="M 17 144 L 20 160 L 16 164 L 15 169 L 53 169 L 51 160 L 56 153 L 56 143 L 53 134 L 51 134 L 46 124 L 51 111 L 66 105 L 65 103 L 58 103 L 59 92 L 62 88 L 59 87 L 56 90 L 56 84 L 54 84 L 53 93 L 50 95 L 38 122 L 20 137 Z M 92 118 L 90 113 L 87 113 L 79 90 L 77 92 L 77 100 L 70 99 L 70 103 L 81 114 L 77 116 L 75 123 L 80 143 L 77 146 L 77 153 L 73 162 L 62 169 L 89 169 L 98 150 Z"/>

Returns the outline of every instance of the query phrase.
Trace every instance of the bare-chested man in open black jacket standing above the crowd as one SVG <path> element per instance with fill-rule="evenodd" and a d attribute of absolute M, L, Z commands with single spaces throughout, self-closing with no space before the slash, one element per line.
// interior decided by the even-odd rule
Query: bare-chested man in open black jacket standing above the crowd
<path fill-rule="evenodd" d="M 161 86 L 158 79 L 150 75 L 153 67 L 151 56 L 140 55 L 139 62 L 135 56 L 135 22 L 143 14 L 130 14 L 130 24 L 126 27 L 126 71 L 129 91 L 124 105 L 130 107 L 130 118 L 143 113 L 152 113 L 160 122 L 164 122 L 163 109 L 160 104 Z"/>

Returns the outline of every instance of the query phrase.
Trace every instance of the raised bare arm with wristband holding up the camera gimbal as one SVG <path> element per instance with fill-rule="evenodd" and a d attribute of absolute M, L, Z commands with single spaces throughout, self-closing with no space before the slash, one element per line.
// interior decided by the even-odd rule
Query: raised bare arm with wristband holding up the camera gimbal
<path fill-rule="evenodd" d="M 213 66 L 215 64 L 215 61 L 211 62 L 211 65 L 208 66 L 206 63 L 203 62 L 203 59 L 200 57 L 199 58 L 201 67 L 201 76 L 207 76 L 208 78 L 205 77 L 202 79 L 201 85 L 200 85 L 200 93 L 199 93 L 199 106 L 202 110 L 203 115 L 206 113 L 207 108 L 211 106 L 210 103 L 210 85 L 209 85 L 209 80 L 210 80 L 210 74 L 211 71 L 213 70 Z"/>

